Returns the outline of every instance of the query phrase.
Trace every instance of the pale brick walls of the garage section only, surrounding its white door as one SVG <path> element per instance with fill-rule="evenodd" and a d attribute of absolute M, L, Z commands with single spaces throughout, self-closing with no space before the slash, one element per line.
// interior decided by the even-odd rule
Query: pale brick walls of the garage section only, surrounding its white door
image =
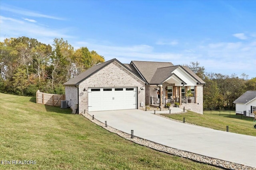
<path fill-rule="evenodd" d="M 79 92 L 75 86 L 65 86 L 66 100 L 73 109 L 74 104 L 78 104 L 77 96 L 79 94 L 79 113 L 84 110 L 88 112 L 88 88 L 92 87 L 137 87 L 138 89 L 138 109 L 145 108 L 145 82 L 126 70 L 118 62 L 114 61 L 104 68 L 94 73 L 92 76 L 79 84 Z M 140 90 L 143 87 L 144 90 Z M 83 91 L 84 88 L 86 91 Z M 143 106 L 141 106 L 143 103 Z"/>

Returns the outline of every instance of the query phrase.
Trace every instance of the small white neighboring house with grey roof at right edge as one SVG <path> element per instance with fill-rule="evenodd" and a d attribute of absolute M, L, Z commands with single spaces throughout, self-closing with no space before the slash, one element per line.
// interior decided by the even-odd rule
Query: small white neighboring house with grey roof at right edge
<path fill-rule="evenodd" d="M 254 117 L 253 112 L 256 111 L 256 91 L 246 91 L 233 103 L 236 104 L 236 114 Z"/>

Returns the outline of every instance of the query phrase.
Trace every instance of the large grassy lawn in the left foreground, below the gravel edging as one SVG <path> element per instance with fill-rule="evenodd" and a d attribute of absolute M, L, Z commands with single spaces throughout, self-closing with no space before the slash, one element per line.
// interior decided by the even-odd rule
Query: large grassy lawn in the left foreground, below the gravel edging
<path fill-rule="evenodd" d="M 35 103 L 35 98 L 0 94 L 0 164 L 13 170 L 216 170 L 143 147 L 95 125 L 70 109 Z"/>

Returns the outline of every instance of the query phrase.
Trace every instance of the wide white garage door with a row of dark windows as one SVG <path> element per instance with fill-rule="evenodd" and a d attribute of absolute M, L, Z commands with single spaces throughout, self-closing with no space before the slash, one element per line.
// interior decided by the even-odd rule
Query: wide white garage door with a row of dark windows
<path fill-rule="evenodd" d="M 88 88 L 88 111 L 137 109 L 136 87 Z"/>

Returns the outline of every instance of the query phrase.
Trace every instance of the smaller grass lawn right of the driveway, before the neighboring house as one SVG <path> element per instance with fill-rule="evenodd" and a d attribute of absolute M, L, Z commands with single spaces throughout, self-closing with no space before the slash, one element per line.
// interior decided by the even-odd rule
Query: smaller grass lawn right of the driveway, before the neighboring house
<path fill-rule="evenodd" d="M 242 116 L 241 119 L 241 115 L 236 115 L 234 111 L 204 111 L 203 115 L 188 111 L 182 114 L 162 115 L 180 121 L 183 121 L 183 117 L 185 117 L 185 121 L 188 123 L 221 131 L 226 131 L 226 126 L 228 126 L 229 132 L 256 136 L 256 129 L 253 127 L 254 118 Z"/>

